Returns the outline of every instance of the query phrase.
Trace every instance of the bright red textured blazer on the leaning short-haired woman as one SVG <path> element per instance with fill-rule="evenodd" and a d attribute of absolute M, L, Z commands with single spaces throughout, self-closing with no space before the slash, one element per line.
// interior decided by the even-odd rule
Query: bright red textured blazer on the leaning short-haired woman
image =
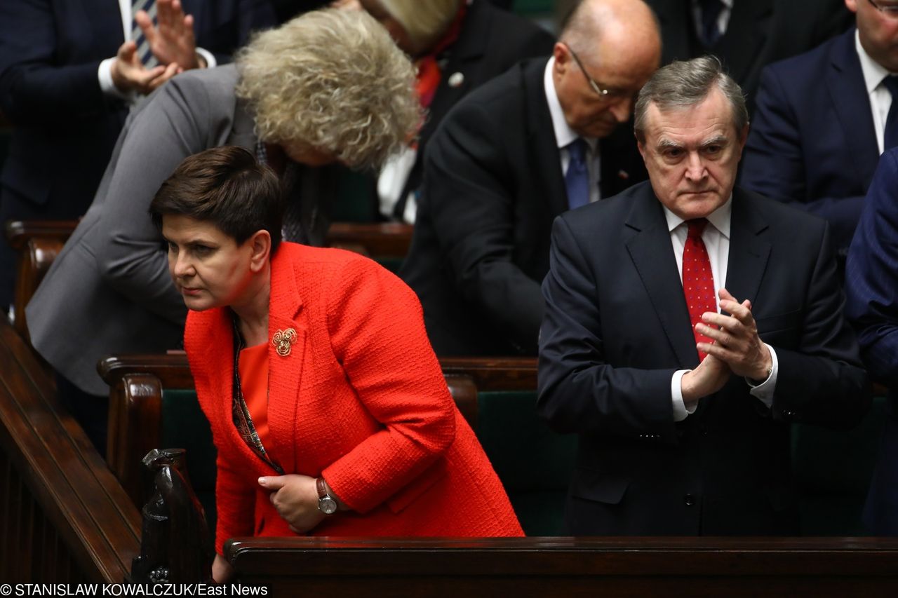
<path fill-rule="evenodd" d="M 505 489 L 456 409 L 427 341 L 418 297 L 372 260 L 282 243 L 271 261 L 269 444 L 287 473 L 323 475 L 353 511 L 314 535 L 523 535 Z M 216 550 L 233 536 L 294 535 L 260 488 L 277 475 L 231 415 L 226 308 L 189 312 L 184 334 L 218 450 Z"/>

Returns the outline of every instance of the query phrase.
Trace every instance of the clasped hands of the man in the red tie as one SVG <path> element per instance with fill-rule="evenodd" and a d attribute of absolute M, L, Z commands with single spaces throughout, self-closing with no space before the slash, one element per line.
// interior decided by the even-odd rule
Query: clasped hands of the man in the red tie
<path fill-rule="evenodd" d="M 682 396 L 687 403 L 719 391 L 730 374 L 765 380 L 770 371 L 770 349 L 758 336 L 752 302 L 746 299 L 739 303 L 725 288 L 718 291 L 718 296 L 720 310 L 729 315 L 705 312 L 696 324 L 696 330 L 713 342 L 696 345 L 708 356 L 682 377 Z"/>

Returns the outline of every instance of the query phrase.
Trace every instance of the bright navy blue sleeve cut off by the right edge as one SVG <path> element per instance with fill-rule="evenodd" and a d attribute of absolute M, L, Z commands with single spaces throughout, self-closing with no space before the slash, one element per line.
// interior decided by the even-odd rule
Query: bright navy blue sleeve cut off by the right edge
<path fill-rule="evenodd" d="M 883 154 L 851 242 L 847 313 L 874 380 L 898 387 L 898 154 Z"/>

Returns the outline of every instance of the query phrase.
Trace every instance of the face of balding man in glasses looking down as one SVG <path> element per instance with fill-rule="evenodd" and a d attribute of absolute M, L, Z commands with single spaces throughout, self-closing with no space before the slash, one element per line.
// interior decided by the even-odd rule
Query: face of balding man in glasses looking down
<path fill-rule="evenodd" d="M 629 120 L 636 94 L 656 71 L 660 62 L 660 45 L 648 43 L 642 47 L 621 51 L 604 48 L 581 56 L 577 64 L 570 48 L 563 42 L 555 45 L 555 67 L 552 73 L 555 92 L 568 126 L 584 137 L 605 137 L 614 128 Z M 603 57 L 593 60 L 593 56 Z M 588 75 L 587 75 L 588 73 Z M 599 95 L 589 78 L 601 89 L 610 91 Z"/>

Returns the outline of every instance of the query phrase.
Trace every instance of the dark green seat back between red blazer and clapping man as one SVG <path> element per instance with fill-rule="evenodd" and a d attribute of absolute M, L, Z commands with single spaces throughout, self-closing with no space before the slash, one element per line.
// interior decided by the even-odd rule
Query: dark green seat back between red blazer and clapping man
<path fill-rule="evenodd" d="M 576 435 L 536 416 L 536 391 L 478 393 L 477 436 L 528 536 L 566 535 L 564 505 Z"/>

